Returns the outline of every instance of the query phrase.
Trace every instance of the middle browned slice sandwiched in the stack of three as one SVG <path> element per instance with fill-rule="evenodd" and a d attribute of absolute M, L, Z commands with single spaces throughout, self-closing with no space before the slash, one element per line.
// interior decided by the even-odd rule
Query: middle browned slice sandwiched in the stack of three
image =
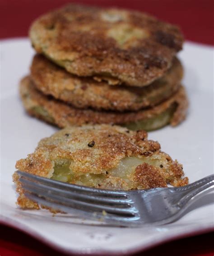
<path fill-rule="evenodd" d="M 93 107 L 105 110 L 139 110 L 157 105 L 175 93 L 183 69 L 175 58 L 164 76 L 142 88 L 111 86 L 92 78 L 80 78 L 66 72 L 42 55 L 36 55 L 31 65 L 31 78 L 40 91 L 77 108 Z"/>

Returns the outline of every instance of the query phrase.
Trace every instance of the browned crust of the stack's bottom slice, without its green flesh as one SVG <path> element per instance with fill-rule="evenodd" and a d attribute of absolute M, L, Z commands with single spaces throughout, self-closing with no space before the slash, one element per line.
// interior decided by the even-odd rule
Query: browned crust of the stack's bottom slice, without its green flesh
<path fill-rule="evenodd" d="M 88 123 L 126 124 L 133 121 L 145 120 L 167 110 L 173 103 L 177 103 L 177 110 L 170 123 L 172 126 L 176 126 L 185 119 L 188 107 L 186 91 L 182 86 L 175 95 L 155 107 L 140 110 L 138 112 L 124 113 L 107 111 L 99 112 L 92 109 L 76 109 L 64 102 L 56 101 L 55 99 L 38 92 L 34 88 L 33 82 L 29 77 L 22 79 L 20 83 L 20 94 L 23 100 L 23 105 L 30 115 L 46 121 L 43 116 L 36 114 L 32 110 L 33 107 L 42 106 L 53 118 L 53 121 L 50 122 L 60 128 L 69 125 L 78 126 Z"/>

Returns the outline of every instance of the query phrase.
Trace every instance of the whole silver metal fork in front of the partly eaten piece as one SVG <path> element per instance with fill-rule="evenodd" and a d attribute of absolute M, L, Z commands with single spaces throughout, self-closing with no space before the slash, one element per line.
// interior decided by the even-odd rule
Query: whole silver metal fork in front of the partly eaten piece
<path fill-rule="evenodd" d="M 173 222 L 193 200 L 214 189 L 214 175 L 182 187 L 113 191 L 17 173 L 24 194 L 38 204 L 120 226 Z"/>

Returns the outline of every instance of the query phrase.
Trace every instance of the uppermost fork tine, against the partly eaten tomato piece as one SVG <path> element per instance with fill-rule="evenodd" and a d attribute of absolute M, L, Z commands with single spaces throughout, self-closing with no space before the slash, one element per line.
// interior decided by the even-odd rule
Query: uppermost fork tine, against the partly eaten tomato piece
<path fill-rule="evenodd" d="M 51 180 L 48 178 L 33 175 L 28 172 L 21 172 L 21 171 L 16 171 L 16 172 L 19 174 L 19 176 L 24 177 L 26 179 L 30 179 L 34 182 L 40 182 L 44 185 L 62 188 L 64 190 L 76 191 L 76 192 L 87 193 L 87 194 L 90 193 L 90 194 L 93 194 L 94 196 L 99 195 L 99 196 L 108 196 L 112 198 L 121 198 L 121 199 L 127 198 L 127 194 L 125 191 L 96 189 L 96 188 L 87 187 L 87 186 L 79 186 L 79 185 L 74 185 L 70 183 L 59 182 L 56 180 Z"/>

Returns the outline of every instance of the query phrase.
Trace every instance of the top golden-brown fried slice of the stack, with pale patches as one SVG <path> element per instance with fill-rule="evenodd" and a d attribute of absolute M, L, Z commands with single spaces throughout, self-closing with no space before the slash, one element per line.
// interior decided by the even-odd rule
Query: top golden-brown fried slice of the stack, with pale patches
<path fill-rule="evenodd" d="M 163 76 L 183 44 L 177 26 L 148 14 L 72 4 L 39 17 L 29 36 L 71 74 L 140 87 Z"/>

